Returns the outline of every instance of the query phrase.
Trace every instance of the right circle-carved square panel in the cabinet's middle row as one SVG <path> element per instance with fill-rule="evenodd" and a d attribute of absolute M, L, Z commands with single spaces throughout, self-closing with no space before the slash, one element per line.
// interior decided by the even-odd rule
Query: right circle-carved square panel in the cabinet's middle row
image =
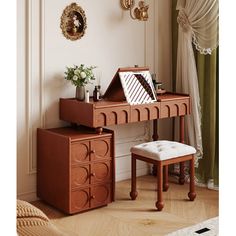
<path fill-rule="evenodd" d="M 91 164 L 91 184 L 111 181 L 111 176 L 111 161 Z"/>

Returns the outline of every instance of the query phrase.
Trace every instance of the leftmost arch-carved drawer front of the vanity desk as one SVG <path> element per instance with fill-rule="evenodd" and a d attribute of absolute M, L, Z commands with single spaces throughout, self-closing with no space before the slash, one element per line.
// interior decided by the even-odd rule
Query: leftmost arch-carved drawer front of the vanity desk
<path fill-rule="evenodd" d="M 129 122 L 128 106 L 95 110 L 95 127 L 125 124 Z"/>

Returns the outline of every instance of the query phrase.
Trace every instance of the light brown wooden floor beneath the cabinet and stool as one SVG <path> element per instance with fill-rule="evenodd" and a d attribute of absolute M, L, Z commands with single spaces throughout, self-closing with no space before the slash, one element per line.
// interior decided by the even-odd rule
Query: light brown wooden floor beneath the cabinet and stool
<path fill-rule="evenodd" d="M 72 216 L 64 215 L 42 201 L 33 204 L 69 235 L 83 236 L 151 236 L 165 235 L 206 219 L 218 216 L 218 192 L 196 187 L 197 197 L 188 201 L 188 184 L 172 180 L 163 194 L 164 209 L 156 211 L 156 178 L 137 180 L 138 197 L 130 200 L 130 180 L 116 183 L 116 201 L 106 207 Z"/>

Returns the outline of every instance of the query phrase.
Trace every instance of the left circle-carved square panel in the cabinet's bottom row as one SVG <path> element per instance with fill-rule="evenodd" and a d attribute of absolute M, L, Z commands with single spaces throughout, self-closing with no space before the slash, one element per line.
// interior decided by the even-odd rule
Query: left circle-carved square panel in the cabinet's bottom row
<path fill-rule="evenodd" d="M 90 193 L 89 188 L 83 188 L 71 192 L 70 213 L 76 213 L 89 209 Z"/>

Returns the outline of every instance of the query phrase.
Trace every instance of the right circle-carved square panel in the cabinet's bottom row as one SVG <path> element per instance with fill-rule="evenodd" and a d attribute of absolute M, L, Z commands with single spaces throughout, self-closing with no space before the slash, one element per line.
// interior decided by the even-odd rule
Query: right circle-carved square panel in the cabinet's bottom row
<path fill-rule="evenodd" d="M 111 202 L 111 185 L 102 184 L 91 187 L 91 207 L 106 205 Z"/>

